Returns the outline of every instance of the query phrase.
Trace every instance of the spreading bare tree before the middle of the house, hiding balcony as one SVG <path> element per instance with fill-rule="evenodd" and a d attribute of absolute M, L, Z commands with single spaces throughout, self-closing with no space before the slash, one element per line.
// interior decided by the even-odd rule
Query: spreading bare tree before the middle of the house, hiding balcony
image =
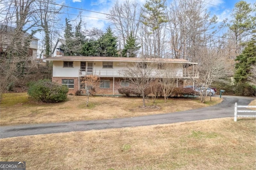
<path fill-rule="evenodd" d="M 136 90 L 142 95 L 143 107 L 146 107 L 145 91 L 150 88 L 150 84 L 156 78 L 156 63 L 152 59 L 142 57 L 140 61 L 124 64 L 124 66 L 125 68 L 120 71 L 120 74 L 124 76 L 125 80 L 136 86 Z"/>

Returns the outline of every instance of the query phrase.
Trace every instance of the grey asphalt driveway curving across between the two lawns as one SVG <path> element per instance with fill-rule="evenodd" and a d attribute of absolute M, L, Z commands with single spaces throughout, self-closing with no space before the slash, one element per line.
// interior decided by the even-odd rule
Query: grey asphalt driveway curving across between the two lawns
<path fill-rule="evenodd" d="M 234 105 L 236 102 L 238 105 L 248 105 L 252 100 L 254 100 L 254 98 L 240 96 L 222 96 L 222 98 L 223 102 L 215 106 L 193 109 L 189 111 L 179 111 L 175 113 L 109 120 L 5 126 L 0 127 L 0 138 L 234 117 Z"/>

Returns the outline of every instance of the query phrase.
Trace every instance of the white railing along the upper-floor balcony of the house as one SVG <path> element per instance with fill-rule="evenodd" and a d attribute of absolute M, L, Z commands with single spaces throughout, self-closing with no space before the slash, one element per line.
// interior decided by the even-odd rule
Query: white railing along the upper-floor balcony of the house
<path fill-rule="evenodd" d="M 118 70 L 79 70 L 79 76 L 87 76 L 87 75 L 97 75 L 99 77 L 124 77 Z M 162 77 L 161 72 L 154 72 L 156 77 Z M 171 74 L 170 74 L 171 75 Z M 170 76 L 169 75 L 169 76 Z M 176 72 L 176 74 L 172 74 L 173 78 L 198 78 L 198 72 Z"/>

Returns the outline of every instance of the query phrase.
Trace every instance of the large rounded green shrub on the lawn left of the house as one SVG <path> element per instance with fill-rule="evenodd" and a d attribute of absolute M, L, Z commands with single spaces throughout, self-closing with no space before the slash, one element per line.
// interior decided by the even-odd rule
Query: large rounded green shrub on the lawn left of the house
<path fill-rule="evenodd" d="M 50 80 L 31 82 L 28 95 L 38 102 L 56 103 L 66 100 L 68 87 L 53 83 Z"/>

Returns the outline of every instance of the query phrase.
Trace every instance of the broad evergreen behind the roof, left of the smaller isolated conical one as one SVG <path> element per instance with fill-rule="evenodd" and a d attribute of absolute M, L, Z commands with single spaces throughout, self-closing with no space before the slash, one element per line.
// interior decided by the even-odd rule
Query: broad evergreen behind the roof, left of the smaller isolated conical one
<path fill-rule="evenodd" d="M 117 51 L 117 37 L 114 36 L 111 28 L 108 26 L 106 33 L 104 33 L 99 41 L 99 55 L 101 57 L 118 57 Z"/>

